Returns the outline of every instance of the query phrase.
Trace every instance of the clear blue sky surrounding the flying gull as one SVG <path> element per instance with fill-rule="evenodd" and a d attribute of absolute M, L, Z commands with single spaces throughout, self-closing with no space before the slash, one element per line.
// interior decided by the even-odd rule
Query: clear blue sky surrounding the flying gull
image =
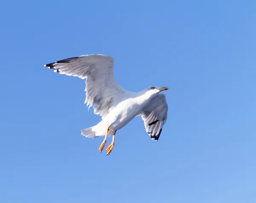
<path fill-rule="evenodd" d="M 255 203 L 256 1 L 3 1 L 1 203 Z M 103 138 L 80 130 L 83 80 L 46 63 L 115 58 L 127 90 L 168 86 L 158 142 L 140 117 Z M 107 146 L 111 138 L 108 139 Z"/>

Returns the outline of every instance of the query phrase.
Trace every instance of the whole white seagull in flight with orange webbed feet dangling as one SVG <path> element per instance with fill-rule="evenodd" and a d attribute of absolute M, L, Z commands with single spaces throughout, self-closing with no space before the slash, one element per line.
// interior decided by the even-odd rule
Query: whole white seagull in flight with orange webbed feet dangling
<path fill-rule="evenodd" d="M 168 111 L 166 96 L 161 92 L 168 90 L 168 87 L 150 86 L 140 92 L 123 89 L 113 75 L 113 57 L 103 54 L 81 55 L 44 66 L 56 73 L 86 79 L 84 104 L 89 106 L 88 110 L 93 107 L 94 114 L 100 115 L 102 121 L 81 130 L 81 135 L 88 138 L 105 136 L 99 152 L 105 147 L 107 136 L 113 135 L 112 142 L 106 149 L 107 155 L 110 155 L 115 144 L 116 131 L 136 116 L 142 117 L 151 139 L 159 139 Z"/>

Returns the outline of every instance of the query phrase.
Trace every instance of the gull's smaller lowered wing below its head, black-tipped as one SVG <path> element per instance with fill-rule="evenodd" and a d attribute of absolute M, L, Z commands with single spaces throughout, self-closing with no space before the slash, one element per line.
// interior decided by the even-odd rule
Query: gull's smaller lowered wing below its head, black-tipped
<path fill-rule="evenodd" d="M 160 93 L 155 96 L 140 114 L 146 132 L 151 136 L 151 139 L 156 141 L 162 132 L 163 125 L 167 120 L 168 105 L 164 94 Z"/>

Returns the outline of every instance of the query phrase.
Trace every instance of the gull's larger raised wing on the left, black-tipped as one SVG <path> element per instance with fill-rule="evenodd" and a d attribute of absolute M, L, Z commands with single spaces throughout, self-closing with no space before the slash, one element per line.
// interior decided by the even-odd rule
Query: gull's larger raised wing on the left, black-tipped
<path fill-rule="evenodd" d="M 84 103 L 87 103 L 89 108 L 92 106 L 94 113 L 99 114 L 103 119 L 126 92 L 114 78 L 113 65 L 114 59 L 111 56 L 91 54 L 64 59 L 44 66 L 60 74 L 86 79 Z"/>

